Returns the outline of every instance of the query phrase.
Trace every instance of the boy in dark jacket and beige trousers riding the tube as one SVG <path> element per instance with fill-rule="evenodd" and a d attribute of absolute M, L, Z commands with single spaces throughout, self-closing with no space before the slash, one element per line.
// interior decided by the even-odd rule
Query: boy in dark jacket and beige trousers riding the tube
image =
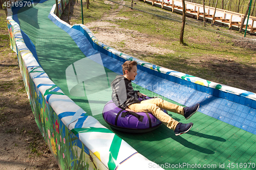
<path fill-rule="evenodd" d="M 169 129 L 174 130 L 175 135 L 188 132 L 193 123 L 182 124 L 164 113 L 160 108 L 183 115 L 186 119 L 197 112 L 199 104 L 192 107 L 182 107 L 169 103 L 162 99 L 149 99 L 139 101 L 138 96 L 145 94 L 135 91 L 132 86 L 132 80 L 137 76 L 137 62 L 125 61 L 122 65 L 123 76 L 117 76 L 111 83 L 112 101 L 116 106 L 132 112 L 150 112 L 158 118 Z"/>

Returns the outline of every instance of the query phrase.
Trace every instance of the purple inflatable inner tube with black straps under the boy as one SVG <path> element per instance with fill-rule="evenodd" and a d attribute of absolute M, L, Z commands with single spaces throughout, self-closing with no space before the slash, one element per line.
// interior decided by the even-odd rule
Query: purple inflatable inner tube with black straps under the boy
<path fill-rule="evenodd" d="M 163 111 L 167 113 L 166 110 Z M 161 124 L 152 113 L 125 111 L 117 107 L 113 101 L 104 106 L 103 118 L 110 125 L 125 129 L 151 129 Z"/>

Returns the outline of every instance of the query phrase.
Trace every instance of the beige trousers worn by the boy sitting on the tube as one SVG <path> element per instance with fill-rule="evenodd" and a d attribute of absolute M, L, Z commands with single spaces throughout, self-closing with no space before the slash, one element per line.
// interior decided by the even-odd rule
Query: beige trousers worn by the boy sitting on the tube
<path fill-rule="evenodd" d="M 168 110 L 170 112 L 178 113 L 184 116 L 183 107 L 173 103 L 169 103 L 162 99 L 149 99 L 141 101 L 141 103 L 135 103 L 128 106 L 129 109 L 135 112 L 150 112 L 156 118 L 158 118 L 169 129 L 175 130 L 178 125 L 178 121 L 164 113 L 160 108 Z"/>

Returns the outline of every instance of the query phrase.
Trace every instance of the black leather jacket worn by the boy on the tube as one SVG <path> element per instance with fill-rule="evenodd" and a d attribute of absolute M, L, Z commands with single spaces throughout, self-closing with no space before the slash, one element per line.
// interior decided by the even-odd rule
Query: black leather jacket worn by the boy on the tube
<path fill-rule="evenodd" d="M 112 86 L 112 101 L 116 106 L 125 109 L 127 106 L 134 103 L 140 103 L 138 99 L 138 91 L 134 90 L 132 81 L 123 76 L 117 76 L 111 83 Z"/>

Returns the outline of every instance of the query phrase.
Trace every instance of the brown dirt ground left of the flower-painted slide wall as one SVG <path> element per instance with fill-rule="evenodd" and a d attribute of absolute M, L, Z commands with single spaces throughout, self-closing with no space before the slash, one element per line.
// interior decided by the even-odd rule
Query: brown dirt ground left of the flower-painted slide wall
<path fill-rule="evenodd" d="M 7 25 L 0 35 L 0 169 L 59 169 L 35 123 L 16 53 L 2 38 Z"/>

